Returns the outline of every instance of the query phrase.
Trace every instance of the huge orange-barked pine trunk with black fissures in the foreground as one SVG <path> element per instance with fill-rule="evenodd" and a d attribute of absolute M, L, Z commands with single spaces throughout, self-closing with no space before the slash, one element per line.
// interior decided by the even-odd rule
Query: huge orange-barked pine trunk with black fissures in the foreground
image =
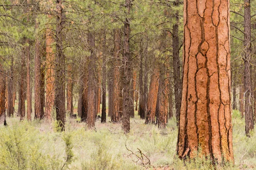
<path fill-rule="evenodd" d="M 184 1 L 181 159 L 200 151 L 213 164 L 234 161 L 229 31 L 229 0 Z"/>

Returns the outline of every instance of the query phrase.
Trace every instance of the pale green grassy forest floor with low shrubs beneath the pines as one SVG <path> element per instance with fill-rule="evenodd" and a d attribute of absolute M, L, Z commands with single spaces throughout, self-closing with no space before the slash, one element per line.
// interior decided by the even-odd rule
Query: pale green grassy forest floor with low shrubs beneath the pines
<path fill-rule="evenodd" d="M 211 167 L 209 161 L 199 158 L 186 166 L 175 159 L 175 119 L 169 120 L 165 130 L 159 130 L 155 125 L 145 125 L 135 113 L 128 135 L 123 134 L 122 124 L 111 123 L 109 117 L 105 124 L 97 120 L 94 130 L 78 123 L 79 118 L 67 118 L 65 132 L 58 132 L 56 122 L 7 118 L 9 126 L 0 125 L 0 170 L 208 170 Z M 143 158 L 137 152 L 140 150 Z M 256 134 L 252 133 L 251 138 L 245 136 L 244 119 L 239 111 L 233 111 L 233 150 L 235 166 L 223 169 L 256 169 Z"/>

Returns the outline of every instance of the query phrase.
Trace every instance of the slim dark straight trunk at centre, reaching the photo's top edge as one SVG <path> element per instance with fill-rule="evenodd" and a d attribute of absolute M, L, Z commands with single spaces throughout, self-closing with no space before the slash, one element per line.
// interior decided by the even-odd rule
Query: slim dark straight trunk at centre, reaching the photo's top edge
<path fill-rule="evenodd" d="M 131 85 L 131 68 L 130 68 L 130 9 L 131 0 L 125 0 L 125 21 L 124 21 L 124 54 L 123 54 L 123 113 L 122 113 L 122 130 L 124 133 L 130 132 L 130 85 Z"/>

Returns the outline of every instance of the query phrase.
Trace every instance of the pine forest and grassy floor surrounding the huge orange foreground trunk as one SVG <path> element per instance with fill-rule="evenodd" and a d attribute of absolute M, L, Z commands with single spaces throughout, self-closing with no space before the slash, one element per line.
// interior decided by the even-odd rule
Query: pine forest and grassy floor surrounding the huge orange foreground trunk
<path fill-rule="evenodd" d="M 256 168 L 255 7 L 230 0 L 230 169 Z M 0 48 L 0 169 L 211 167 L 175 159 L 183 1 L 0 0 Z"/>

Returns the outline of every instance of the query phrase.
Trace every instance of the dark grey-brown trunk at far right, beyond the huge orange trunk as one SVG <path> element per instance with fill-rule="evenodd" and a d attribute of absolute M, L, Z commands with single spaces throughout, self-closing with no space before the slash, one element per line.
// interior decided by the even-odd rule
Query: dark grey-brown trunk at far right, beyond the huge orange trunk
<path fill-rule="evenodd" d="M 244 118 L 245 133 L 250 136 L 253 130 L 253 93 L 251 83 L 251 15 L 250 0 L 244 0 Z"/>

